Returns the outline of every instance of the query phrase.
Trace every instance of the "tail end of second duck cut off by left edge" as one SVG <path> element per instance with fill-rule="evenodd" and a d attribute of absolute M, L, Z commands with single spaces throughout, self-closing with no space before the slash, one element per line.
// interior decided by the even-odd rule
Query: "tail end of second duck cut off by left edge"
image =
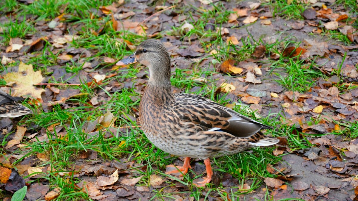
<path fill-rule="evenodd" d="M 0 117 L 13 118 L 33 114 L 32 110 L 18 103 L 23 100 L 23 97 L 11 96 L 0 90 Z"/>

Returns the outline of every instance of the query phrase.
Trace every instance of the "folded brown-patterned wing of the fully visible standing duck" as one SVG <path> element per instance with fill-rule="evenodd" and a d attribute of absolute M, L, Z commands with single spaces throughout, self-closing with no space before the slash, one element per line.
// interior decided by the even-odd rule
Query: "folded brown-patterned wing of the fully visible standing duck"
<path fill-rule="evenodd" d="M 261 129 L 272 129 L 199 95 L 174 94 L 174 97 L 173 109 L 180 119 L 198 124 L 205 131 L 223 131 L 236 137 L 250 137 Z"/>

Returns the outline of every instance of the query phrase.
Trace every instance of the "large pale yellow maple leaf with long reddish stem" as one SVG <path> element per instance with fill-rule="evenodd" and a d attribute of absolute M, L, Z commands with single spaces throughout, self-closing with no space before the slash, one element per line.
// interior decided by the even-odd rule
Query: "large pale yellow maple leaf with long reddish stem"
<path fill-rule="evenodd" d="M 33 99 L 41 99 L 41 93 L 45 90 L 35 87 L 34 84 L 43 81 L 41 71 L 34 71 L 32 65 L 26 65 L 20 62 L 18 72 L 9 72 L 4 75 L 4 80 L 8 86 L 11 86 L 12 96 L 30 96 Z"/>

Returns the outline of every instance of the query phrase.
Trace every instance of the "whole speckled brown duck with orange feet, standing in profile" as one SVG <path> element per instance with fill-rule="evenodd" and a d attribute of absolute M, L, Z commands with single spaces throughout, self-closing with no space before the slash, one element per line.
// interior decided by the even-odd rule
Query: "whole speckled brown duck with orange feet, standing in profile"
<path fill-rule="evenodd" d="M 207 177 L 193 184 L 205 186 L 213 171 L 210 157 L 236 154 L 250 147 L 274 145 L 261 129 L 272 129 L 214 101 L 194 94 L 173 94 L 170 56 L 158 40 L 142 42 L 134 54 L 117 62 L 123 66 L 139 62 L 149 67 L 149 80 L 140 101 L 139 118 L 147 138 L 159 149 L 185 156 L 184 165 L 166 166 L 166 173 L 188 172 L 190 158 L 203 159 Z"/>

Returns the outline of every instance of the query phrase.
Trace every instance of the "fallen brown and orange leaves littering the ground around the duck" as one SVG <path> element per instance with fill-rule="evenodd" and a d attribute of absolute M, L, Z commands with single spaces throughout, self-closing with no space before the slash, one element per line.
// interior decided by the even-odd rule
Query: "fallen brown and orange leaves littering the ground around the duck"
<path fill-rule="evenodd" d="M 29 2 L 29 4 L 31 3 Z M 188 4 L 188 2 L 181 1 L 179 3 L 183 5 Z M 210 3 L 212 1 L 200 1 L 198 5 L 205 9 L 210 9 Z M 310 2 L 306 3 L 310 4 Z M 103 22 L 99 29 L 92 30 L 92 34 L 100 36 L 105 34 L 107 29 L 113 27 L 112 29 L 116 31 L 128 31 L 142 36 L 153 37 L 165 30 L 165 26 L 158 26 L 161 23 L 172 23 L 171 26 L 180 27 L 182 34 L 190 33 L 190 31 L 195 29 L 195 23 L 189 20 L 189 16 L 185 14 L 180 15 L 175 10 L 162 12 L 160 15 L 154 16 L 140 25 L 140 22 L 150 16 L 155 10 L 140 1 L 137 4 L 138 8 L 140 6 L 144 8 L 144 14 L 138 15 L 137 11 L 130 10 L 130 5 L 124 2 L 114 2 L 112 5 L 98 7 L 98 12 L 100 13 L 97 15 L 101 15 L 101 17 L 110 16 L 108 18 L 110 20 Z M 170 6 L 169 2 L 166 2 L 166 4 L 166 7 Z M 356 16 L 352 16 L 344 11 L 341 12 L 341 10 L 344 10 L 343 8 L 335 7 L 335 5 L 329 2 L 326 2 L 326 4 L 332 7 L 310 6 L 302 13 L 305 20 L 289 20 L 290 26 L 285 26 L 285 23 L 282 23 L 284 20 L 276 20 L 277 18 L 275 20 L 267 19 L 272 17 L 272 15 L 267 15 L 267 13 L 270 13 L 269 7 L 263 6 L 260 3 L 251 2 L 251 4 L 246 6 L 243 4 L 239 6 L 225 2 L 224 6 L 232 11 L 228 15 L 228 23 L 224 23 L 223 27 L 205 26 L 206 29 L 220 32 L 223 41 L 226 41 L 227 45 L 232 45 L 235 48 L 243 46 L 241 39 L 250 37 L 247 31 L 254 38 L 260 36 L 253 29 L 257 29 L 260 32 L 270 32 L 272 28 L 276 30 L 283 30 L 284 28 L 289 31 L 295 30 L 297 32 L 294 33 L 303 36 L 302 39 L 297 37 L 297 44 L 299 43 L 299 45 L 279 46 L 278 51 L 275 52 L 272 52 L 273 50 L 267 46 L 272 38 L 264 38 L 262 44 L 254 44 L 250 54 L 247 54 L 241 60 L 238 60 L 234 55 L 230 55 L 226 60 L 217 61 L 219 65 L 211 67 L 213 72 L 217 71 L 216 74 L 203 79 L 207 82 L 207 80 L 219 77 L 220 81 L 216 84 L 218 89 L 220 89 L 217 91 L 218 94 L 222 95 L 222 93 L 225 93 L 228 94 L 228 97 L 240 99 L 249 106 L 251 111 L 256 111 L 261 116 L 268 116 L 269 111 L 280 114 L 277 121 L 284 125 L 294 126 L 295 130 L 292 132 L 297 134 L 298 131 L 300 136 L 306 135 L 306 140 L 312 145 L 310 148 L 301 147 L 301 149 L 293 151 L 291 150 L 292 145 L 287 144 L 287 142 L 284 145 L 276 147 L 273 155 L 281 156 L 285 154 L 282 159 L 296 168 L 289 168 L 280 163 L 274 166 L 267 165 L 266 170 L 277 177 L 265 177 L 262 179 L 261 187 L 255 190 L 257 191 L 255 196 L 259 199 L 265 196 L 266 191 L 269 191 L 274 199 L 296 197 L 314 200 L 322 196 L 329 199 L 333 195 L 337 195 L 343 200 L 347 197 L 354 199 L 358 196 L 357 192 L 349 191 L 349 188 L 357 189 L 358 186 L 358 182 L 352 177 L 358 174 L 358 141 L 349 136 L 342 137 L 335 135 L 342 132 L 341 126 L 343 128 L 343 124 L 353 125 L 354 120 L 358 118 L 358 91 L 357 89 L 347 87 L 357 86 L 357 52 L 350 51 L 358 47 L 356 45 L 358 40 L 357 30 L 355 26 L 352 26 L 352 21 L 350 20 Z M 164 9 L 164 7 L 158 7 L 158 9 Z M 65 26 L 60 18 L 59 16 L 55 20 L 48 21 L 47 24 L 45 22 L 37 23 L 35 28 L 45 30 L 42 33 L 46 36 L 39 37 L 30 34 L 26 36 L 26 39 L 28 39 L 26 41 L 15 37 L 9 40 L 8 46 L 3 46 L 3 52 L 0 53 L 2 57 L 1 63 L 8 71 L 3 71 L 1 74 L 1 78 L 6 83 L 5 87 L 1 87 L 2 90 L 11 91 L 11 95 L 22 96 L 29 98 L 29 100 L 36 99 L 41 102 L 39 106 L 40 110 L 43 109 L 44 111 L 52 110 L 55 106 L 59 106 L 61 109 L 74 109 L 78 105 L 81 105 L 77 97 L 86 97 L 88 95 L 79 92 L 79 90 L 70 92 L 69 89 L 64 87 L 56 88 L 50 85 L 45 85 L 44 87 L 36 86 L 36 84 L 41 83 L 49 84 L 49 80 L 52 79 L 51 77 L 57 81 L 63 80 L 67 84 L 81 84 L 84 81 L 87 86 L 93 87 L 97 96 L 87 100 L 91 103 L 92 108 L 90 110 L 99 108 L 106 101 L 110 100 L 106 92 L 113 94 L 115 91 L 130 88 L 138 88 L 139 90 L 135 90 L 139 93 L 142 92 L 143 84 L 147 80 L 147 73 L 144 69 L 141 69 L 138 73 L 142 74 L 142 76 L 137 79 L 135 84 L 130 79 L 106 81 L 111 77 L 110 74 L 112 73 L 108 65 L 116 62 L 116 56 L 105 55 L 98 57 L 95 56 L 98 53 L 96 49 L 84 49 L 72 46 L 72 41 L 78 41 L 83 36 L 81 32 L 73 29 L 78 25 L 71 23 L 68 24 L 71 30 L 71 35 L 69 35 L 64 31 L 67 29 L 67 25 Z M 194 18 L 198 20 L 197 16 L 194 16 Z M 233 24 L 236 27 L 245 25 L 248 28 L 247 30 L 233 29 Z M 319 40 L 307 35 L 307 33 L 319 34 L 327 30 L 339 31 L 344 36 L 347 36 L 351 44 L 346 45 L 339 42 Z M 202 47 L 198 38 L 194 35 L 185 36 L 182 40 L 178 40 L 169 34 L 162 34 L 162 37 L 166 39 L 164 42 L 171 44 L 171 47 L 168 47 L 168 49 L 172 53 L 173 61 L 175 61 L 178 69 L 188 69 L 188 66 L 191 68 L 190 65 L 193 61 L 200 61 L 197 62 L 199 67 L 205 67 L 209 62 L 214 63 L 212 57 L 209 59 L 204 59 L 204 57 L 209 55 L 210 52 L 214 55 L 218 54 L 221 48 L 209 47 L 210 51 L 207 51 L 208 47 Z M 280 35 L 275 40 L 284 41 L 286 38 L 284 35 Z M 52 61 L 54 66 L 49 66 L 47 69 L 39 68 L 38 66 L 33 67 L 31 62 L 28 62 L 30 57 L 40 55 L 42 51 L 45 52 L 44 54 L 50 54 L 49 50 L 44 49 L 47 43 L 53 46 L 51 50 L 52 54 L 57 55 L 56 60 Z M 126 50 L 133 50 L 138 44 L 137 41 L 130 41 L 124 37 L 117 38 L 116 43 L 124 45 Z M 181 46 L 186 46 L 187 48 L 180 48 Z M 343 59 L 343 56 L 345 59 Z M 278 87 L 274 81 L 277 77 L 274 77 L 274 79 L 267 78 L 271 70 L 270 66 L 260 61 L 269 59 L 279 60 L 281 57 L 284 57 L 284 61 L 296 60 L 304 61 L 308 65 L 316 64 L 316 70 L 319 70 L 325 78 L 314 78 L 316 85 L 310 87 L 306 92 Z M 70 62 L 86 65 L 83 65 L 83 69 L 78 72 L 71 72 L 71 70 L 64 67 Z M 12 70 L 15 67 L 14 65 L 17 70 Z M 230 76 L 227 76 L 227 74 L 230 74 Z M 104 90 L 96 88 L 95 84 L 105 87 Z M 269 87 L 260 88 L 257 86 Z M 137 100 L 137 97 L 131 97 L 131 99 Z M 131 115 L 132 119 L 136 120 L 136 111 L 132 110 L 130 113 L 126 115 Z M 117 129 L 121 130 L 121 132 L 127 132 L 127 128 L 120 128 L 117 118 L 119 117 L 116 117 L 110 111 L 102 111 L 101 115 L 86 122 L 85 126 L 83 126 L 83 131 L 88 134 L 87 138 L 101 134 L 104 139 L 112 137 Z M 23 147 L 21 141 L 49 142 L 48 132 L 59 139 L 66 140 L 67 126 L 52 124 L 52 127 L 47 127 L 46 129 L 36 127 L 26 128 L 23 126 L 13 126 L 11 121 L 6 119 L 4 121 L 3 119 L 1 120 L 0 129 L 4 134 L 7 134 L 11 129 L 16 130 L 15 133 L 10 134 L 6 139 L 7 144 L 4 147 L 6 152 L 1 161 L 3 166 L 0 167 L 2 170 L 0 179 L 5 184 L 4 189 L 6 191 L 15 192 L 21 189 L 25 185 L 23 176 L 28 176 L 26 179 L 26 182 L 28 182 L 28 180 L 42 178 L 42 172 L 48 173 L 53 171 L 50 165 L 40 167 L 34 162 L 37 161 L 40 164 L 41 161 L 48 161 L 49 153 L 36 153 L 34 156 L 26 156 L 21 159 L 22 162 L 20 164 L 13 166 L 14 160 L 25 156 L 12 154 L 15 149 L 29 151 L 28 148 Z M 321 137 L 321 134 L 328 135 Z M 315 137 L 315 135 L 318 137 Z M 125 142 L 121 146 L 125 146 Z M 34 161 L 27 162 L 29 160 Z M 78 183 L 73 188 L 77 189 L 77 191 L 85 192 L 90 198 L 97 200 L 108 199 L 110 197 L 149 199 L 153 196 L 151 194 L 152 188 L 168 185 L 165 182 L 167 179 L 157 174 L 151 174 L 149 179 L 147 179 L 137 172 L 130 170 L 138 168 L 137 166 L 140 165 L 132 162 L 125 160 L 124 157 L 121 159 L 120 165 L 118 165 L 115 161 L 103 161 L 101 157 L 97 156 L 97 151 L 95 150 L 82 151 L 78 154 L 77 165 L 72 169 L 69 168 L 62 172 L 62 177 L 68 178 L 71 174 L 71 176 L 81 179 L 82 183 Z M 16 167 L 17 170 L 13 167 Z M 305 174 L 295 170 L 304 171 Z M 313 181 L 304 175 L 309 175 L 309 177 L 314 175 L 318 179 Z M 233 182 L 233 179 L 235 178 L 232 176 L 226 176 L 223 178 L 222 183 L 229 184 Z M 144 183 L 141 182 L 143 180 L 149 181 L 149 185 L 143 186 Z M 86 181 L 86 184 L 83 181 Z M 233 183 L 241 192 L 250 192 L 247 191 L 251 189 L 252 185 L 250 183 L 243 185 Z M 286 183 L 292 187 L 286 185 Z M 179 185 L 180 183 L 176 184 Z M 291 193 L 290 188 L 292 188 L 293 193 Z M 107 191 L 108 189 L 116 191 L 109 192 Z M 188 188 L 185 186 L 180 188 L 172 187 L 171 191 L 178 191 L 179 189 L 188 191 Z M 337 190 L 337 194 L 331 193 L 334 192 L 332 189 Z M 347 190 L 348 194 L 343 193 L 344 190 Z M 60 191 L 61 189 L 57 188 L 50 190 L 46 182 L 40 184 L 33 182 L 29 185 L 26 198 L 28 200 L 53 200 L 59 196 Z M 211 195 L 216 196 L 214 194 Z M 246 197 L 250 199 L 255 196 L 248 194 Z"/>

